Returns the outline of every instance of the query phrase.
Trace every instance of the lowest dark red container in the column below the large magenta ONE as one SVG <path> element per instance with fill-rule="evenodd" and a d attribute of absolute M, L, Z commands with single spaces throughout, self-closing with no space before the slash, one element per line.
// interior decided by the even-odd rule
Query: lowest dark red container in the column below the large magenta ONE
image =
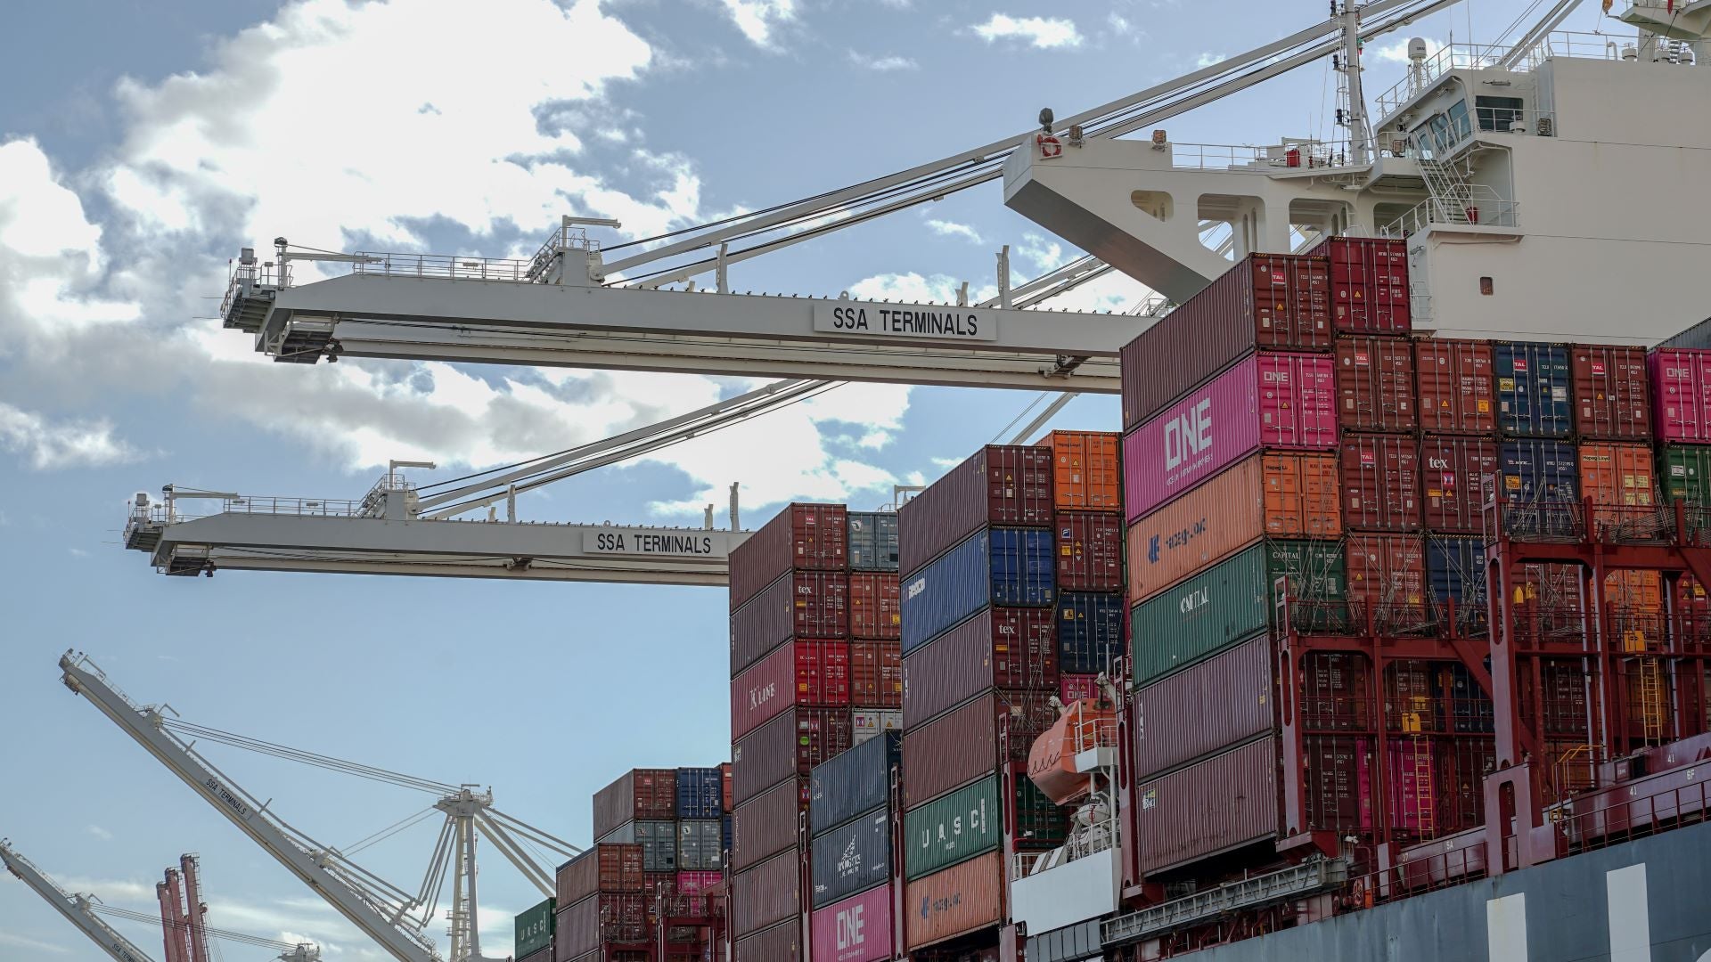
<path fill-rule="evenodd" d="M 1278 832 L 1278 743 L 1240 748 L 1134 786 L 1134 837 L 1146 876 L 1268 842 Z M 1275 854 L 1275 852 L 1273 852 Z"/>

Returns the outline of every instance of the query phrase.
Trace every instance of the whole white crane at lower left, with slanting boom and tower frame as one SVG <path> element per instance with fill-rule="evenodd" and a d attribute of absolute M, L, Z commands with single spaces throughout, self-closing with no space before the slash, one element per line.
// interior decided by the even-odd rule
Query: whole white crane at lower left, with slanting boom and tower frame
<path fill-rule="evenodd" d="M 554 892 L 553 873 L 541 866 L 530 847 L 546 849 L 570 858 L 580 849 L 542 832 L 493 806 L 491 791 L 477 786 L 453 786 L 431 779 L 400 775 L 371 765 L 315 755 L 282 745 L 236 736 L 214 727 L 190 724 L 164 705 L 137 705 L 108 681 L 106 674 L 87 657 L 67 652 L 60 657 L 62 680 L 74 693 L 82 695 L 101 714 L 108 716 L 157 762 L 166 765 L 204 801 L 224 815 L 257 846 L 286 866 L 299 882 L 327 900 L 363 935 L 399 962 L 483 962 L 477 928 L 477 837 L 500 851 L 542 895 Z M 197 750 L 197 741 L 219 741 L 279 758 L 318 765 L 366 779 L 428 793 L 435 801 L 423 811 L 370 835 L 351 846 L 351 851 L 323 846 L 293 828 L 267 803 L 238 786 L 214 767 Z M 354 851 L 383 840 L 435 813 L 443 817 L 440 837 L 428 871 L 416 892 L 392 885 L 385 878 L 352 861 Z M 450 878 L 448 878 L 450 876 Z M 438 916 L 438 900 L 450 880 L 452 904 L 450 950 L 440 955 L 426 936 L 428 924 Z"/>

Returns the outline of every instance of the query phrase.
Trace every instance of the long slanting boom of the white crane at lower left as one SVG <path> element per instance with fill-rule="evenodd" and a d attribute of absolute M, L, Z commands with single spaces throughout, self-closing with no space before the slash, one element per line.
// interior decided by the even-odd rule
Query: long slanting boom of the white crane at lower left
<path fill-rule="evenodd" d="M 440 953 L 428 940 L 397 924 L 402 912 L 387 907 L 378 894 L 347 871 L 335 871 L 335 852 L 299 842 L 306 837 L 269 813 L 265 805 L 257 805 L 236 782 L 168 731 L 157 707 L 133 704 L 84 656 L 67 652 L 60 657 L 60 669 L 67 688 L 87 698 L 388 955 L 399 962 L 440 962 Z"/>

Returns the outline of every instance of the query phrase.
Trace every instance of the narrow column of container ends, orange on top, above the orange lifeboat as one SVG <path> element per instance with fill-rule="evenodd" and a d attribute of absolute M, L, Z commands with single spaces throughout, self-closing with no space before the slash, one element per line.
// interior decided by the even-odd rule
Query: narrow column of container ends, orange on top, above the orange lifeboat
<path fill-rule="evenodd" d="M 1052 431 L 1052 531 L 1057 548 L 1057 695 L 1097 698 L 1095 680 L 1126 654 L 1119 435 Z"/>

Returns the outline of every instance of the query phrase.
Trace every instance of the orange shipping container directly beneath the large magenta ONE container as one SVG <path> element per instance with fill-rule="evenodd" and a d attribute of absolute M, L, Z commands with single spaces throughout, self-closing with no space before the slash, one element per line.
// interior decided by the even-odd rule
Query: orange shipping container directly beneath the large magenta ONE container
<path fill-rule="evenodd" d="M 1335 454 L 1261 452 L 1129 526 L 1129 604 L 1261 537 L 1338 537 Z"/>

